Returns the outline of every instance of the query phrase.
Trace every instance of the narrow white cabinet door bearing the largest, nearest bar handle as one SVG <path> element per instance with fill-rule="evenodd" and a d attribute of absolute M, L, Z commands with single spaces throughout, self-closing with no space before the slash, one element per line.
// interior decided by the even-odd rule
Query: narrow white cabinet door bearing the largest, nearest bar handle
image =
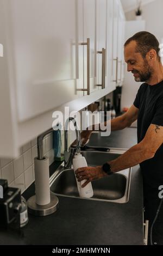
<path fill-rule="evenodd" d="M 83 24 L 84 24 L 84 42 L 90 39 L 90 94 L 97 90 L 96 76 L 96 17 L 95 0 L 83 0 Z M 84 46 L 84 89 L 87 89 L 87 47 Z M 87 95 L 87 92 L 84 93 Z"/>

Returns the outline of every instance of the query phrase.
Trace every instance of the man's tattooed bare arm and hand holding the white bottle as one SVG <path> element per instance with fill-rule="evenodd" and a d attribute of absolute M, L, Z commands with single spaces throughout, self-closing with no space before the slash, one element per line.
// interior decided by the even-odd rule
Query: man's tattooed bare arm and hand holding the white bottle
<path fill-rule="evenodd" d="M 143 140 L 131 147 L 126 153 L 117 159 L 110 161 L 112 172 L 135 166 L 145 160 L 151 159 L 160 145 L 163 143 L 163 126 L 151 124 Z M 107 174 L 103 171 L 102 166 L 83 167 L 76 170 L 78 181 L 86 179 L 82 187 L 86 186 L 91 180 L 102 178 Z"/>

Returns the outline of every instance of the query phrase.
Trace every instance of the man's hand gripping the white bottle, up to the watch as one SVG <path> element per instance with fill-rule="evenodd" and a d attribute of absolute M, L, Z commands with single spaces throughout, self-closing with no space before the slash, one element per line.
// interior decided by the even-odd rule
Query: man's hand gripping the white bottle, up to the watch
<path fill-rule="evenodd" d="M 102 169 L 102 166 L 96 167 L 82 167 L 76 170 L 78 181 L 86 180 L 82 187 L 85 187 L 90 181 L 98 180 L 104 176 L 108 176 Z"/>

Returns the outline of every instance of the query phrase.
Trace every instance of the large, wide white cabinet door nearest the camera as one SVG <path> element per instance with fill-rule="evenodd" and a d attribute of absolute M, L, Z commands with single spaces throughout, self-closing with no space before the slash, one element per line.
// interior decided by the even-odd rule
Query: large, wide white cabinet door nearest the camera
<path fill-rule="evenodd" d="M 76 0 L 9 0 L 5 4 L 18 119 L 76 99 Z"/>

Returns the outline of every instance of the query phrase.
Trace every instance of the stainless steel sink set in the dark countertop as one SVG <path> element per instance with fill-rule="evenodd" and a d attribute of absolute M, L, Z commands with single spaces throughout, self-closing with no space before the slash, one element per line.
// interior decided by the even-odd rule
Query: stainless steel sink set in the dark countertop
<path fill-rule="evenodd" d="M 88 166 L 97 166 L 116 159 L 124 151 L 123 149 L 111 149 L 110 152 L 82 151 L 82 155 L 85 157 Z M 131 168 L 128 168 L 92 181 L 93 197 L 81 198 L 79 197 L 74 170 L 64 169 L 64 164 L 62 164 L 52 175 L 50 184 L 51 191 L 58 196 L 126 203 L 129 200 L 130 177 Z"/>

